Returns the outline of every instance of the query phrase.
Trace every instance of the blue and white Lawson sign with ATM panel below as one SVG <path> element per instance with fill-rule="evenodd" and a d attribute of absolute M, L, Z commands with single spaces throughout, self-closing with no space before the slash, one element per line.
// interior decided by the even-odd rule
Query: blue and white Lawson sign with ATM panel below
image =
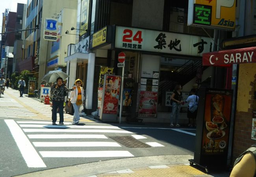
<path fill-rule="evenodd" d="M 58 21 L 55 19 L 45 19 L 44 39 L 48 41 L 57 41 Z"/>

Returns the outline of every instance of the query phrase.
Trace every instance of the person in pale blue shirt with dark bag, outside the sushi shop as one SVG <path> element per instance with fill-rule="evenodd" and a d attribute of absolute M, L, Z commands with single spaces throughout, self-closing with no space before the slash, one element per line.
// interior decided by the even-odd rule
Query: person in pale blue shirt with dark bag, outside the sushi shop
<path fill-rule="evenodd" d="M 196 89 L 191 89 L 191 95 L 187 97 L 186 103 L 188 103 L 187 108 L 187 118 L 189 119 L 189 127 L 196 127 L 196 118 L 197 118 L 197 104 L 198 96 L 195 94 Z"/>

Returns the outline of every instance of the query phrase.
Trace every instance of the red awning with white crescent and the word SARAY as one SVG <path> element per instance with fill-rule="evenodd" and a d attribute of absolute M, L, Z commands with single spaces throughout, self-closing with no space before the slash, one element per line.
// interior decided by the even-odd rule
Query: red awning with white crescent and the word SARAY
<path fill-rule="evenodd" d="M 256 63 L 256 47 L 203 53 L 203 66 L 231 66 L 239 63 Z"/>

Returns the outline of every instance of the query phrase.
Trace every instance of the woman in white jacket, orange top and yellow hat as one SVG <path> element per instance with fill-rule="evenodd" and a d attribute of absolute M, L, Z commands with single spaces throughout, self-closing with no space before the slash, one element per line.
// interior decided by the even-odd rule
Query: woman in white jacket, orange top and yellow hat
<path fill-rule="evenodd" d="M 74 117 L 73 117 L 73 123 L 77 124 L 80 120 L 79 116 L 79 109 L 81 106 L 83 106 L 83 87 L 81 85 L 83 84 L 82 80 L 76 79 L 75 86 L 73 87 L 74 90 L 72 90 L 69 94 L 69 107 L 72 103 L 74 108 Z"/>

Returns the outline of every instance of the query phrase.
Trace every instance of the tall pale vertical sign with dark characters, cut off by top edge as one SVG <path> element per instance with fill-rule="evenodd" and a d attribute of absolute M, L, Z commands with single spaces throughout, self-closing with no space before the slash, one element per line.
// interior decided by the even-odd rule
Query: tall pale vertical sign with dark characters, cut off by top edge
<path fill-rule="evenodd" d="M 89 17 L 89 0 L 82 0 L 81 4 L 81 19 L 80 19 L 80 36 L 88 30 L 88 17 Z"/>

